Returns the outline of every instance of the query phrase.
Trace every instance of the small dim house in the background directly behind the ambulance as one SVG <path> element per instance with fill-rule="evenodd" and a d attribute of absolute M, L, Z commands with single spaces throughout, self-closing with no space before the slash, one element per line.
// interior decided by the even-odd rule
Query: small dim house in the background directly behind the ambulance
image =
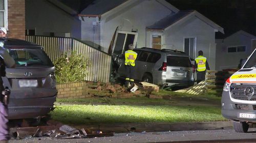
<path fill-rule="evenodd" d="M 256 37 L 241 30 L 216 43 L 216 70 L 237 69 L 256 48 Z"/>

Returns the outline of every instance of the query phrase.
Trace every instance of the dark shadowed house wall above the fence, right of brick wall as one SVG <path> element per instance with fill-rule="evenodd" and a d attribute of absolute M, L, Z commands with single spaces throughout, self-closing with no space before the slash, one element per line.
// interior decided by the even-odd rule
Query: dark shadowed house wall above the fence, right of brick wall
<path fill-rule="evenodd" d="M 20 0 L 19 0 L 20 1 Z M 26 0 L 26 29 L 36 29 L 36 35 L 81 38 L 81 21 L 57 8 L 47 0 Z"/>

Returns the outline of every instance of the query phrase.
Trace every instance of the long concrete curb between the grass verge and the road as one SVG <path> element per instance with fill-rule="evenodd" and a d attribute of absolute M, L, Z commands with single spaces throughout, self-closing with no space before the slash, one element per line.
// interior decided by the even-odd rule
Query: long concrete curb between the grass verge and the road
<path fill-rule="evenodd" d="M 104 133 L 115 132 L 161 132 L 184 130 L 217 130 L 232 129 L 231 121 L 220 122 L 190 122 L 190 123 L 123 123 L 123 124 L 98 124 L 74 126 L 77 129 L 85 128 L 90 131 L 102 131 Z"/>

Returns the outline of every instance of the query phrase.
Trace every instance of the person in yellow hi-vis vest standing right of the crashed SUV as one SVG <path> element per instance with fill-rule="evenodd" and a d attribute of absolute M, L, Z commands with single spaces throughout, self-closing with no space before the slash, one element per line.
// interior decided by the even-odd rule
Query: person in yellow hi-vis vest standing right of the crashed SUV
<path fill-rule="evenodd" d="M 195 59 L 195 68 L 197 69 L 197 83 L 205 79 L 205 71 L 210 70 L 207 59 L 203 56 L 203 51 L 198 51 L 198 57 Z"/>

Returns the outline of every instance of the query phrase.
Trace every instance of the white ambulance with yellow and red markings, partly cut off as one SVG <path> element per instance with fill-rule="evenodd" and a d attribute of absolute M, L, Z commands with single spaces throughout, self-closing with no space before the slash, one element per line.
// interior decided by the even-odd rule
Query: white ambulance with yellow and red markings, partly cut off
<path fill-rule="evenodd" d="M 256 49 L 236 73 L 226 80 L 221 99 L 222 116 L 233 121 L 236 132 L 256 123 Z"/>

